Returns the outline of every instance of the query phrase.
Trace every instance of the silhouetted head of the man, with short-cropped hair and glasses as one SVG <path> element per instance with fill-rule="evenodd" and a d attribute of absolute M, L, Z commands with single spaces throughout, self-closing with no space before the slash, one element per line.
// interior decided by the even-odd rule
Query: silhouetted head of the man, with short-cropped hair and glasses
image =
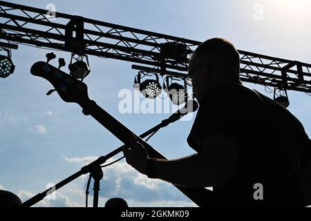
<path fill-rule="evenodd" d="M 238 51 L 226 39 L 208 39 L 191 56 L 188 74 L 198 100 L 215 86 L 241 84 Z"/>

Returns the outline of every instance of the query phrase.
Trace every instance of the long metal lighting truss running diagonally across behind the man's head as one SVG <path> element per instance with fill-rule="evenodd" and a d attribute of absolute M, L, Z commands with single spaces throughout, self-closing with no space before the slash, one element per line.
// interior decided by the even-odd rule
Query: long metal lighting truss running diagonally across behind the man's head
<path fill-rule="evenodd" d="M 188 59 L 201 43 L 104 21 L 0 1 L 0 39 L 95 55 L 144 66 L 160 75 L 187 77 Z M 311 93 L 311 64 L 238 50 L 241 80 Z"/>

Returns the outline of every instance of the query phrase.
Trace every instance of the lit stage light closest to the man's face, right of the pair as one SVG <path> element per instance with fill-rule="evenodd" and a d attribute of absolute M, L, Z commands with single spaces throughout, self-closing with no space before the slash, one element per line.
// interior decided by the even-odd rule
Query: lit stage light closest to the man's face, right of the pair
<path fill-rule="evenodd" d="M 163 86 L 163 88 L 169 94 L 169 98 L 171 102 L 175 105 L 180 105 L 187 102 L 188 93 L 187 93 L 187 83 L 184 79 L 184 86 L 178 83 L 171 83 L 169 84 L 169 79 L 173 80 L 172 77 L 166 77 L 167 84 Z M 180 79 L 178 79 L 180 80 Z"/>

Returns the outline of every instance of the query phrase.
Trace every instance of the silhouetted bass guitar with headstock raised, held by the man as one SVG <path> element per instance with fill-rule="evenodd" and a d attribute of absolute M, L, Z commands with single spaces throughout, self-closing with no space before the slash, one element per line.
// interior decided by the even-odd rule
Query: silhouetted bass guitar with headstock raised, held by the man
<path fill-rule="evenodd" d="M 75 79 L 74 77 L 64 73 L 64 71 L 55 68 L 44 61 L 38 61 L 32 65 L 30 73 L 35 76 L 43 77 L 52 84 L 64 100 L 64 102 L 75 102 L 83 108 L 85 115 L 91 115 L 97 122 L 107 128 L 113 135 L 121 140 L 125 145 L 131 144 L 132 135 L 135 135 L 129 128 L 117 121 L 109 115 L 100 106 L 88 98 L 87 86 L 84 82 Z M 53 92 L 54 90 L 52 90 Z M 50 94 L 50 92 L 48 93 Z M 163 155 L 158 153 L 152 146 L 144 142 L 138 135 L 135 135 L 137 140 L 143 144 L 149 153 L 149 157 L 165 159 Z M 182 193 L 187 195 L 198 206 L 211 205 L 211 191 L 205 188 L 186 188 L 184 186 L 176 186 Z"/>

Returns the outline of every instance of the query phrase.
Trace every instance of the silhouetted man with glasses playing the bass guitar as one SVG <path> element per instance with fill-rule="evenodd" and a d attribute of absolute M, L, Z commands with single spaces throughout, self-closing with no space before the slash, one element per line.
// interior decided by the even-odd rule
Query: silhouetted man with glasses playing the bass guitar
<path fill-rule="evenodd" d="M 197 153 L 149 159 L 133 139 L 133 148 L 124 148 L 126 162 L 173 184 L 213 186 L 214 206 L 311 204 L 304 199 L 311 184 L 304 171 L 310 169 L 308 135 L 283 106 L 243 86 L 239 70 L 238 51 L 229 41 L 200 44 L 188 70 L 200 108 L 187 141 Z"/>

